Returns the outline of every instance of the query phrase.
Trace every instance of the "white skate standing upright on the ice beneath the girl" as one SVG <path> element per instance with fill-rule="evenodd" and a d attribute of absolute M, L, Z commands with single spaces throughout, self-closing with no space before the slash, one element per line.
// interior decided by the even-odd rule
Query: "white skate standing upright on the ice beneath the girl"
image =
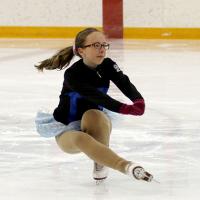
<path fill-rule="evenodd" d="M 94 169 L 93 169 L 93 178 L 97 182 L 101 182 L 106 179 L 108 176 L 108 167 L 100 165 L 94 162 Z"/>

